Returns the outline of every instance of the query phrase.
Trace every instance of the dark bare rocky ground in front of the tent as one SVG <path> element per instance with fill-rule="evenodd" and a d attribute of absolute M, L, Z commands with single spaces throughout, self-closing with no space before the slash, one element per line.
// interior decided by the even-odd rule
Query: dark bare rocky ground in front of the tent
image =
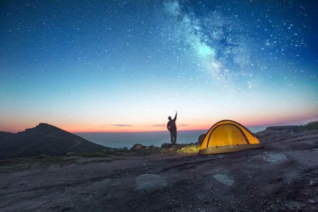
<path fill-rule="evenodd" d="M 264 149 L 219 155 L 1 160 L 0 211 L 318 211 L 318 130 L 258 136 Z"/>

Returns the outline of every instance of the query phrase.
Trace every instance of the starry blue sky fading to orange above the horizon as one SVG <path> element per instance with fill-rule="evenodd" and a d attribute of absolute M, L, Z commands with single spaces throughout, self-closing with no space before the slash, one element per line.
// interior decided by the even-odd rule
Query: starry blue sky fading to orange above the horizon
<path fill-rule="evenodd" d="M 318 2 L 1 1 L 0 131 L 318 119 Z"/>

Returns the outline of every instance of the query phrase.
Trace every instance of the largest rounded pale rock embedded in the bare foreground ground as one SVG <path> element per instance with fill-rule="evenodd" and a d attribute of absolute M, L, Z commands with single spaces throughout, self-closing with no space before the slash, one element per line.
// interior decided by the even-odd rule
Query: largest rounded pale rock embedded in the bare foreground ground
<path fill-rule="evenodd" d="M 141 193 L 153 193 L 168 185 L 166 179 L 156 174 L 143 174 L 136 177 L 136 190 Z"/>

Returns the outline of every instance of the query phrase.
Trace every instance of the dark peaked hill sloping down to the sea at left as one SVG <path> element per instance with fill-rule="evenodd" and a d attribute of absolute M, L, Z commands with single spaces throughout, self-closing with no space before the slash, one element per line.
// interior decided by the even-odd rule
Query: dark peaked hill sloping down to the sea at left
<path fill-rule="evenodd" d="M 0 159 L 30 157 L 46 154 L 66 155 L 69 152 L 92 153 L 109 150 L 79 136 L 49 124 L 19 133 L 0 132 Z"/>

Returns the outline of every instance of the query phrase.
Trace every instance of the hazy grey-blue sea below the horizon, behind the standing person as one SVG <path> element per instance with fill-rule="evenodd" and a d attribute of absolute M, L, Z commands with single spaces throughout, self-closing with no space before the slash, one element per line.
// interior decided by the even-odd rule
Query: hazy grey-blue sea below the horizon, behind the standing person
<path fill-rule="evenodd" d="M 250 127 L 252 133 L 264 130 L 266 127 Z M 177 143 L 195 143 L 198 137 L 206 134 L 207 130 L 178 131 Z M 141 132 L 141 133 L 74 133 L 88 141 L 112 148 L 131 148 L 135 143 L 149 146 L 161 146 L 162 143 L 170 143 L 170 133 L 160 132 Z"/>

